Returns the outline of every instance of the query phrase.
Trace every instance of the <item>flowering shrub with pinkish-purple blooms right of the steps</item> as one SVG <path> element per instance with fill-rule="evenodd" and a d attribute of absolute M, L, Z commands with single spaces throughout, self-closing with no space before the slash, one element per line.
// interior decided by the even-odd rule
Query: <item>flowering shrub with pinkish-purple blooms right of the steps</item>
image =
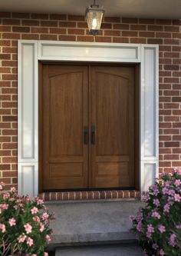
<path fill-rule="evenodd" d="M 181 170 L 163 174 L 143 193 L 145 206 L 130 216 L 145 255 L 181 255 Z"/>

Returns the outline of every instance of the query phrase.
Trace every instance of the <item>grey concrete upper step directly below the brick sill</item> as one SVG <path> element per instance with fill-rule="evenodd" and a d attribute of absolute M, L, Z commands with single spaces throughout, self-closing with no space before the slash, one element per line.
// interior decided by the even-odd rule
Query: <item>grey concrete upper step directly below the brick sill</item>
<path fill-rule="evenodd" d="M 129 216 L 143 206 L 141 201 L 48 202 L 56 219 L 51 244 L 54 249 L 90 244 L 134 243 Z"/>

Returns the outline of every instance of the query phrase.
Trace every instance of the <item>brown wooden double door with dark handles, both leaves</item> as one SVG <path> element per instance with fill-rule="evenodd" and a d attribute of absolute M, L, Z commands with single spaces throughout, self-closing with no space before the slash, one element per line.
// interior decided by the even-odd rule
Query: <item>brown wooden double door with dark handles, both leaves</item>
<path fill-rule="evenodd" d="M 42 65 L 42 189 L 135 185 L 134 68 Z"/>

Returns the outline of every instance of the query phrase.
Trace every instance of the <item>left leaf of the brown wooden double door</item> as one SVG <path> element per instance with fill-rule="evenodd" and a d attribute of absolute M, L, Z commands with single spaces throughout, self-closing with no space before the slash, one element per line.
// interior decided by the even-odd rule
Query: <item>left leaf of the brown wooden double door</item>
<path fill-rule="evenodd" d="M 87 188 L 87 67 L 43 65 L 42 75 L 42 187 Z"/>

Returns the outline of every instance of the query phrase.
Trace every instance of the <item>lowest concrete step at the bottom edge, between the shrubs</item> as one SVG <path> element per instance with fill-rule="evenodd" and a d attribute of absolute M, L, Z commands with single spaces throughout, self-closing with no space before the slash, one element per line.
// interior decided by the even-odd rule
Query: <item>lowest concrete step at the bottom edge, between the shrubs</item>
<path fill-rule="evenodd" d="M 143 256 L 143 250 L 137 244 L 91 245 L 58 248 L 55 256 Z"/>

